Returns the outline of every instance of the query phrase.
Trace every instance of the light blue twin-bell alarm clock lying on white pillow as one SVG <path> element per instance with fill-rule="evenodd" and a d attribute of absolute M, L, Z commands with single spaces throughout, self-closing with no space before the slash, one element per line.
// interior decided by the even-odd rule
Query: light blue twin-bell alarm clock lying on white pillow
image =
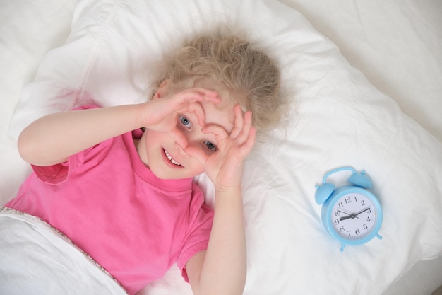
<path fill-rule="evenodd" d="M 335 189 L 327 178 L 342 170 L 350 170 L 349 185 Z M 362 170 L 357 173 L 350 166 L 336 168 L 326 173 L 321 185 L 316 185 L 315 200 L 322 204 L 321 221 L 323 228 L 340 241 L 342 252 L 345 245 L 362 245 L 375 236 L 382 224 L 382 209 L 376 196 L 370 191 L 371 179 Z"/>

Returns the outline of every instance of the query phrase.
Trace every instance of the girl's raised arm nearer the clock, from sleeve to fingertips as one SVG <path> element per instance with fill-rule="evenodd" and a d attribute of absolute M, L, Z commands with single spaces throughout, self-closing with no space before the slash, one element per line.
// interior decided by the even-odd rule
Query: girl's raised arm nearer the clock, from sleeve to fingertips
<path fill-rule="evenodd" d="M 229 135 L 221 127 L 205 127 L 215 134 L 219 150 L 209 157 L 199 155 L 205 172 L 215 185 L 215 215 L 208 249 L 187 262 L 194 294 L 242 294 L 246 282 L 246 238 L 241 194 L 244 158 L 256 137 L 251 113 L 234 108 L 235 127 Z M 204 130 L 203 129 L 203 130 Z M 197 151 L 186 152 L 198 156 Z"/>

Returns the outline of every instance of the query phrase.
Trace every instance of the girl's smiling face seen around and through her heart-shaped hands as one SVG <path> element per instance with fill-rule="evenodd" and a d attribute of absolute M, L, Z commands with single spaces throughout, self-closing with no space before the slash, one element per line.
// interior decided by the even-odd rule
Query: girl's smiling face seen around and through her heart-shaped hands
<path fill-rule="evenodd" d="M 205 83 L 198 83 L 204 87 Z M 206 86 L 206 88 L 208 88 Z M 228 93 L 220 91 L 222 100 L 229 100 Z M 220 106 L 221 105 L 221 106 Z M 227 133 L 232 132 L 234 126 L 234 111 L 232 103 L 215 105 L 203 102 L 201 106 L 205 112 L 205 125 L 218 125 Z M 213 154 L 217 150 L 217 141 L 213 134 L 201 131 L 198 117 L 193 112 L 179 113 L 177 128 L 184 134 L 188 146 L 201 149 L 205 154 Z M 168 134 L 146 129 L 141 144 L 137 146 L 142 161 L 152 170 L 157 178 L 181 179 L 192 178 L 204 172 L 203 164 L 197 158 L 187 154 L 177 142 Z"/>

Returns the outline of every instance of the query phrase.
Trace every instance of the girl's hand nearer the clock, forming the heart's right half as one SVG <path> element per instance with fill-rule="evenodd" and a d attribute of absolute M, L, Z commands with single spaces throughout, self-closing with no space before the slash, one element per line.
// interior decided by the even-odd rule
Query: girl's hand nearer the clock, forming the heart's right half
<path fill-rule="evenodd" d="M 215 190 L 225 191 L 241 187 L 243 163 L 255 144 L 256 129 L 252 126 L 251 112 L 242 113 L 234 106 L 234 127 L 231 134 L 217 125 L 203 127 L 202 132 L 215 135 L 217 151 L 208 156 L 203 151 L 189 146 L 186 153 L 200 161 Z"/>

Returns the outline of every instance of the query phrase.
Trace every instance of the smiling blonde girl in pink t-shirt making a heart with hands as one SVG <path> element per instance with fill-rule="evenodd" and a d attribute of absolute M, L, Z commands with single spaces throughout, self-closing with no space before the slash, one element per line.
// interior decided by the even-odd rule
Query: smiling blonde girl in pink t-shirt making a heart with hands
<path fill-rule="evenodd" d="M 152 100 L 85 105 L 26 127 L 18 149 L 34 172 L 6 207 L 64 233 L 129 294 L 174 263 L 194 294 L 242 294 L 243 163 L 256 127 L 277 120 L 278 88 L 263 52 L 199 37 L 168 59 Z M 192 182 L 204 172 L 214 209 Z"/>

